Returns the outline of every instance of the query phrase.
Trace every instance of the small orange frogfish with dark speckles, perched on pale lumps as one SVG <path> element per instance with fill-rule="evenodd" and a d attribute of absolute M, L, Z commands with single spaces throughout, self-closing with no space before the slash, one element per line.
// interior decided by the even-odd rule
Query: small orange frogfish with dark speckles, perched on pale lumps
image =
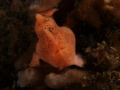
<path fill-rule="evenodd" d="M 82 67 L 84 61 L 75 53 L 74 33 L 67 27 L 59 27 L 52 17 L 46 15 L 36 14 L 35 32 L 39 41 L 30 67 L 40 65 L 39 59 L 59 69 L 71 65 Z"/>

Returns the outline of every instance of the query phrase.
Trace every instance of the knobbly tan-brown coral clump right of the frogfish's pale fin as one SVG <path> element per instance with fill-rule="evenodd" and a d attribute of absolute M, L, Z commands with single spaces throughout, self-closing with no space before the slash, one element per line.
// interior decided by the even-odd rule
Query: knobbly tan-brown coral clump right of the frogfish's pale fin
<path fill-rule="evenodd" d="M 102 65 L 107 69 L 115 69 L 120 66 L 120 60 L 117 50 L 114 47 L 109 47 L 106 42 L 98 43 L 97 48 L 91 52 L 91 55 L 97 59 L 97 65 Z M 99 66 L 100 67 L 100 66 Z"/>

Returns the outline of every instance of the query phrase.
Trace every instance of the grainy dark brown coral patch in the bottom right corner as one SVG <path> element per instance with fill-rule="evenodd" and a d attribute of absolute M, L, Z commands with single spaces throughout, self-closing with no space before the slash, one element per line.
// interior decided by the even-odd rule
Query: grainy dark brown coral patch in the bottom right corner
<path fill-rule="evenodd" d="M 100 90 L 119 90 L 120 89 L 120 72 L 118 71 L 108 71 L 103 73 L 96 73 L 89 77 L 88 82 L 89 85 L 95 85 L 92 89 L 100 89 Z"/>

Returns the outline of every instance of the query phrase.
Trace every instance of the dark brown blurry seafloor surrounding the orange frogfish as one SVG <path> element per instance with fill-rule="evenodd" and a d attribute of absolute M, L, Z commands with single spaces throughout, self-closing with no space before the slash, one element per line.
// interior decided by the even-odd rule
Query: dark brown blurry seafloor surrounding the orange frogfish
<path fill-rule="evenodd" d="M 29 9 L 31 0 L 0 0 L 0 90 L 120 90 L 120 7 L 110 3 L 114 7 L 111 11 L 103 8 L 104 0 L 88 1 L 63 0 L 53 18 L 59 26 L 72 29 L 76 53 L 86 62 L 83 68 L 67 69 L 89 74 L 77 84 L 52 89 L 42 81 L 40 85 L 23 88 L 17 84 L 17 74 L 28 67 L 38 40 L 34 31 L 35 12 Z M 66 70 L 59 71 L 43 61 L 37 69 L 44 76 Z"/>

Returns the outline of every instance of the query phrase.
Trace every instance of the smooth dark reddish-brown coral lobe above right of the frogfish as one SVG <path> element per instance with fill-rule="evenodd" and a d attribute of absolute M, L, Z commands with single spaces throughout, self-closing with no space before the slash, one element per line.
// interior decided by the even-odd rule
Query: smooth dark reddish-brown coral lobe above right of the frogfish
<path fill-rule="evenodd" d="M 98 13 L 99 8 L 103 6 L 103 0 L 82 0 L 78 7 L 71 12 L 71 16 L 75 15 L 80 20 L 83 20 L 90 25 L 99 28 L 102 24 L 100 14 Z"/>

